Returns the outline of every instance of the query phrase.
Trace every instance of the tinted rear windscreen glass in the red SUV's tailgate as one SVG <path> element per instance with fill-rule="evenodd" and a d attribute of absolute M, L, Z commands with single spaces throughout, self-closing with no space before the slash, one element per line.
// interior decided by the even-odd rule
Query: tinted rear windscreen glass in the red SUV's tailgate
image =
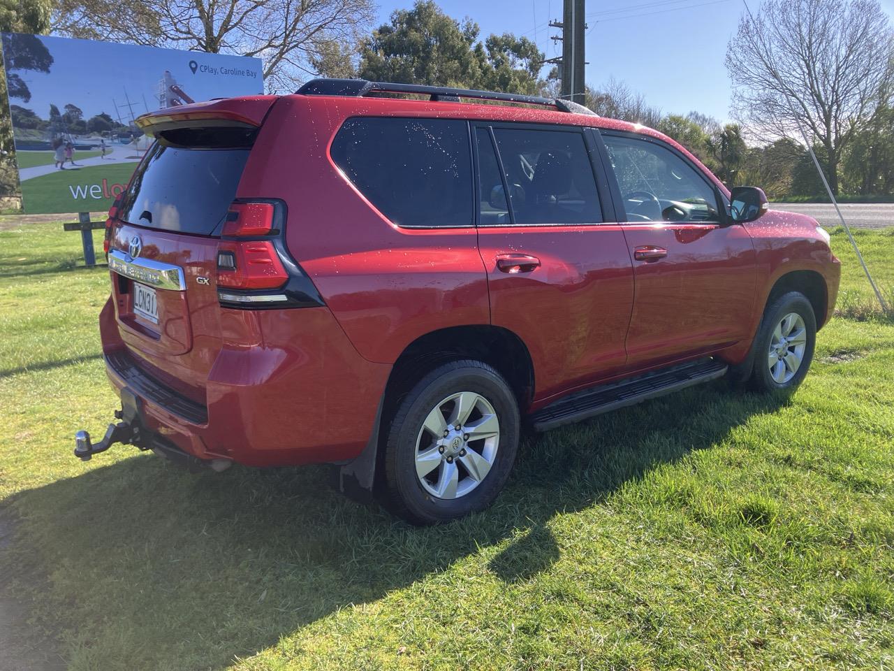
<path fill-rule="evenodd" d="M 119 217 L 131 224 L 210 235 L 236 197 L 248 148 L 149 148 L 125 192 Z"/>

